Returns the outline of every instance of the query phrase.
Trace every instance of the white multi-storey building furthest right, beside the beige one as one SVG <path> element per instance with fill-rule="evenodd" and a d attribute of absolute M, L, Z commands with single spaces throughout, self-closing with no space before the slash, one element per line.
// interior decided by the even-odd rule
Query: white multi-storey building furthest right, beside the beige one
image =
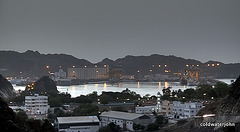
<path fill-rule="evenodd" d="M 203 104 L 199 102 L 173 101 L 173 113 L 176 118 L 189 118 L 195 116 L 198 111 L 203 108 Z"/>

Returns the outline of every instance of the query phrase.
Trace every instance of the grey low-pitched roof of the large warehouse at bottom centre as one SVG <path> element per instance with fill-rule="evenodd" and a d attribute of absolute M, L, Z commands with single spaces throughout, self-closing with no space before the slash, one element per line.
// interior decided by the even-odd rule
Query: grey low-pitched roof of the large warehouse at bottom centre
<path fill-rule="evenodd" d="M 136 114 L 136 113 L 128 113 L 128 112 L 108 111 L 108 112 L 103 112 L 100 116 L 111 117 L 116 119 L 124 119 L 124 120 L 134 120 L 144 115 Z"/>

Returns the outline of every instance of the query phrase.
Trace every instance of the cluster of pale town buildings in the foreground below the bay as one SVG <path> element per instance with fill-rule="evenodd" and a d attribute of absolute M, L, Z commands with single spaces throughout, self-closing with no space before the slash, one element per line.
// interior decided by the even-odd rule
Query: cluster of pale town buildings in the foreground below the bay
<path fill-rule="evenodd" d="M 112 107 L 126 107 L 129 112 L 111 111 Z M 46 118 L 49 105 L 48 97 L 35 94 L 33 96 L 25 96 L 25 106 L 10 106 L 13 110 L 22 109 L 30 117 L 42 119 Z M 161 101 L 160 93 L 157 95 L 157 104 L 153 106 L 137 106 L 134 103 L 114 103 L 108 105 L 99 104 L 99 109 L 107 109 L 109 111 L 102 112 L 99 116 L 74 116 L 74 117 L 57 117 L 56 127 L 59 132 L 93 132 L 98 131 L 100 127 L 107 126 L 113 122 L 119 125 L 123 130 L 133 130 L 133 124 L 147 126 L 154 123 L 155 116 L 153 112 L 159 115 L 165 115 L 168 118 L 190 118 L 194 117 L 203 107 L 200 102 L 180 101 Z M 135 110 L 134 110 L 135 108 Z"/>

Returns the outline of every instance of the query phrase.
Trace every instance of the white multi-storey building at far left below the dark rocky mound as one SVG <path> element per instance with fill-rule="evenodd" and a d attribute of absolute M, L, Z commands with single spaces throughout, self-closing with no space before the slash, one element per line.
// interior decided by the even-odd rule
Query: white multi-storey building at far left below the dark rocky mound
<path fill-rule="evenodd" d="M 35 94 L 25 96 L 25 111 L 28 115 L 47 114 L 49 109 L 48 97 Z"/>

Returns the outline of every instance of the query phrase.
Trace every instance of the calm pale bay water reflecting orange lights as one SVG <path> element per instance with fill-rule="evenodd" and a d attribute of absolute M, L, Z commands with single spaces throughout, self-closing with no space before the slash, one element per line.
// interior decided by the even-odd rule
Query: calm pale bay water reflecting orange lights
<path fill-rule="evenodd" d="M 230 84 L 233 79 L 219 79 L 227 84 Z M 157 92 L 162 94 L 162 89 L 164 87 L 171 86 L 172 90 L 181 89 L 182 91 L 187 88 L 196 88 L 196 86 L 181 86 L 179 82 L 123 82 L 123 83 L 103 83 L 103 84 L 85 84 L 85 85 L 72 85 L 72 86 L 57 86 L 58 91 L 68 92 L 72 97 L 77 97 L 80 95 L 87 95 L 93 91 L 97 91 L 101 94 L 102 91 L 112 91 L 121 92 L 128 88 L 141 96 L 146 94 L 157 95 Z M 25 90 L 24 86 L 13 85 L 15 90 Z"/>

